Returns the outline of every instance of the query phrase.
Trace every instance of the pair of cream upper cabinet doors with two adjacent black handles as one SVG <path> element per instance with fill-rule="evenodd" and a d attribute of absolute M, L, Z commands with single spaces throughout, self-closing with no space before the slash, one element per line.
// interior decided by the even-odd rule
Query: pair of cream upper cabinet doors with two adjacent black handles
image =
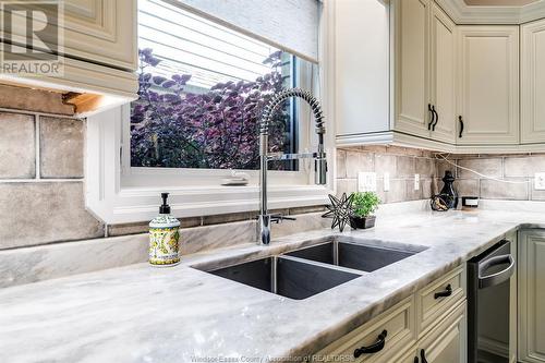
<path fill-rule="evenodd" d="M 395 130 L 456 143 L 456 24 L 433 1 L 395 7 Z"/>

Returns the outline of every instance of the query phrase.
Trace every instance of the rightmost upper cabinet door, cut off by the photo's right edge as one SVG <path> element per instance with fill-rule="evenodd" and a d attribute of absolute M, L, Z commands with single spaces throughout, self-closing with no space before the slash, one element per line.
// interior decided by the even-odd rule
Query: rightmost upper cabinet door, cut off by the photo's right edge
<path fill-rule="evenodd" d="M 545 142 L 545 21 L 521 26 L 521 143 Z"/>

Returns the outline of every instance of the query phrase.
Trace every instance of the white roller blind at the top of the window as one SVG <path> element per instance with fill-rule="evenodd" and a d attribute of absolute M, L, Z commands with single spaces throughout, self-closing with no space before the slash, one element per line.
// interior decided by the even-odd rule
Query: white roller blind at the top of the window
<path fill-rule="evenodd" d="M 318 0 L 168 0 L 271 41 L 310 61 L 318 59 Z"/>

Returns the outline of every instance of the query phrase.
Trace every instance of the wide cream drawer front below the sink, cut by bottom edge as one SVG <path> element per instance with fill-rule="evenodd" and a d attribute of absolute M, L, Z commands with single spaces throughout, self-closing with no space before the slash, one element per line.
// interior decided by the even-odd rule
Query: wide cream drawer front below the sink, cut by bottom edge
<path fill-rule="evenodd" d="M 377 352 L 361 353 L 352 361 L 356 349 L 376 344 L 384 331 L 387 334 L 383 349 Z M 393 355 L 415 341 L 414 298 L 411 297 L 326 347 L 317 353 L 317 356 L 334 362 L 390 362 Z"/>

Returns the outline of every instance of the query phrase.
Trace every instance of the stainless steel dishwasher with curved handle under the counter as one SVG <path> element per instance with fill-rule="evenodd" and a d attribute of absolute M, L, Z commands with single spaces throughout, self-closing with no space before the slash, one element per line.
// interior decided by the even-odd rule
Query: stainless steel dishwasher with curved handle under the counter
<path fill-rule="evenodd" d="M 508 363 L 516 351 L 516 247 L 502 240 L 468 262 L 468 362 Z"/>

